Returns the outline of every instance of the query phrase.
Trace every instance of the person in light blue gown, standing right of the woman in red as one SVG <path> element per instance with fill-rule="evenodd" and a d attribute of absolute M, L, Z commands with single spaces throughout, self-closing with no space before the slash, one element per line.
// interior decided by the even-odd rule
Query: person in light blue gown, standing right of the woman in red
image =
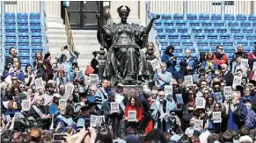
<path fill-rule="evenodd" d="M 176 109 L 176 104 L 165 99 L 164 91 L 159 91 L 158 97 L 154 104 L 151 105 L 150 109 L 152 110 L 151 117 L 154 120 L 154 128 L 158 128 L 164 132 L 169 132 L 169 114 L 170 111 L 174 111 Z"/>

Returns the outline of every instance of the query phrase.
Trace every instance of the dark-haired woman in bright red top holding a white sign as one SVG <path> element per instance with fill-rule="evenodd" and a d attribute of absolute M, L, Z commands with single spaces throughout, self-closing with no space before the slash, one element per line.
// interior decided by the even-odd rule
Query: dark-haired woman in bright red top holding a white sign
<path fill-rule="evenodd" d="M 135 114 L 136 114 L 135 121 L 133 122 L 129 121 L 128 111 L 135 111 Z M 128 105 L 125 107 L 125 112 L 124 112 L 124 119 L 128 121 L 127 126 L 131 126 L 133 128 L 138 127 L 139 122 L 142 120 L 142 118 L 143 118 L 143 111 L 140 106 L 138 97 L 131 97 L 129 99 Z"/>

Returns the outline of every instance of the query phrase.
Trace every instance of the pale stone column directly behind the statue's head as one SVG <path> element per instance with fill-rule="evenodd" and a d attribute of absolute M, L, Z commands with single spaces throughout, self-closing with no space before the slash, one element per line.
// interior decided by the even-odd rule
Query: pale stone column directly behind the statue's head
<path fill-rule="evenodd" d="M 127 5 L 131 11 L 128 17 L 128 23 L 141 24 L 139 19 L 139 3 L 138 1 L 111 1 L 110 2 L 110 12 L 113 18 L 113 23 L 119 23 L 121 20 L 117 12 L 117 8 L 121 5 Z"/>

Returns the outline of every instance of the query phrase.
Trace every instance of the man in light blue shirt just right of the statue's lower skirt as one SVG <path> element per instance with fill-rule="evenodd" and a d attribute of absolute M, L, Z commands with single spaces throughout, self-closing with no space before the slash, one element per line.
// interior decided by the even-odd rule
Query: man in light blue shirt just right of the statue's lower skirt
<path fill-rule="evenodd" d="M 155 74 L 155 81 L 159 89 L 165 89 L 165 85 L 170 85 L 172 80 L 172 74 L 166 71 L 166 64 L 162 62 L 160 64 L 161 72 Z"/>

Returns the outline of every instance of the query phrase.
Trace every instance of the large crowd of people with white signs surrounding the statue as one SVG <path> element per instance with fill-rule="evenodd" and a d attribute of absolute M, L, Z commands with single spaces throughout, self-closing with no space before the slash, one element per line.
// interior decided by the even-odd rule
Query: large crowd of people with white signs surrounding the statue
<path fill-rule="evenodd" d="M 186 49 L 186 56 L 178 59 L 174 46 L 167 46 L 160 56 L 150 42 L 143 49 L 147 60 L 161 63 L 158 71 L 148 64 L 151 80 L 141 88 L 121 83 L 112 87 L 106 79 L 92 84 L 90 74 L 99 74 L 97 52 L 86 71 L 78 67 L 79 53 L 67 46 L 55 59 L 37 52 L 33 65 L 21 68 L 11 47 L 1 77 L 1 141 L 256 142 L 256 43 L 254 47 L 246 54 L 238 46 L 230 60 L 220 45 L 215 53 L 200 53 L 199 58 Z M 43 87 L 35 82 L 38 79 Z M 74 87 L 71 94 L 67 85 Z M 171 94 L 166 90 L 170 85 Z M 66 99 L 64 105 L 62 99 Z M 112 111 L 113 103 L 118 103 L 118 111 Z M 135 111 L 132 121 L 131 111 Z M 217 122 L 215 113 L 220 113 Z M 101 125 L 91 125 L 92 116 L 103 116 Z"/>

